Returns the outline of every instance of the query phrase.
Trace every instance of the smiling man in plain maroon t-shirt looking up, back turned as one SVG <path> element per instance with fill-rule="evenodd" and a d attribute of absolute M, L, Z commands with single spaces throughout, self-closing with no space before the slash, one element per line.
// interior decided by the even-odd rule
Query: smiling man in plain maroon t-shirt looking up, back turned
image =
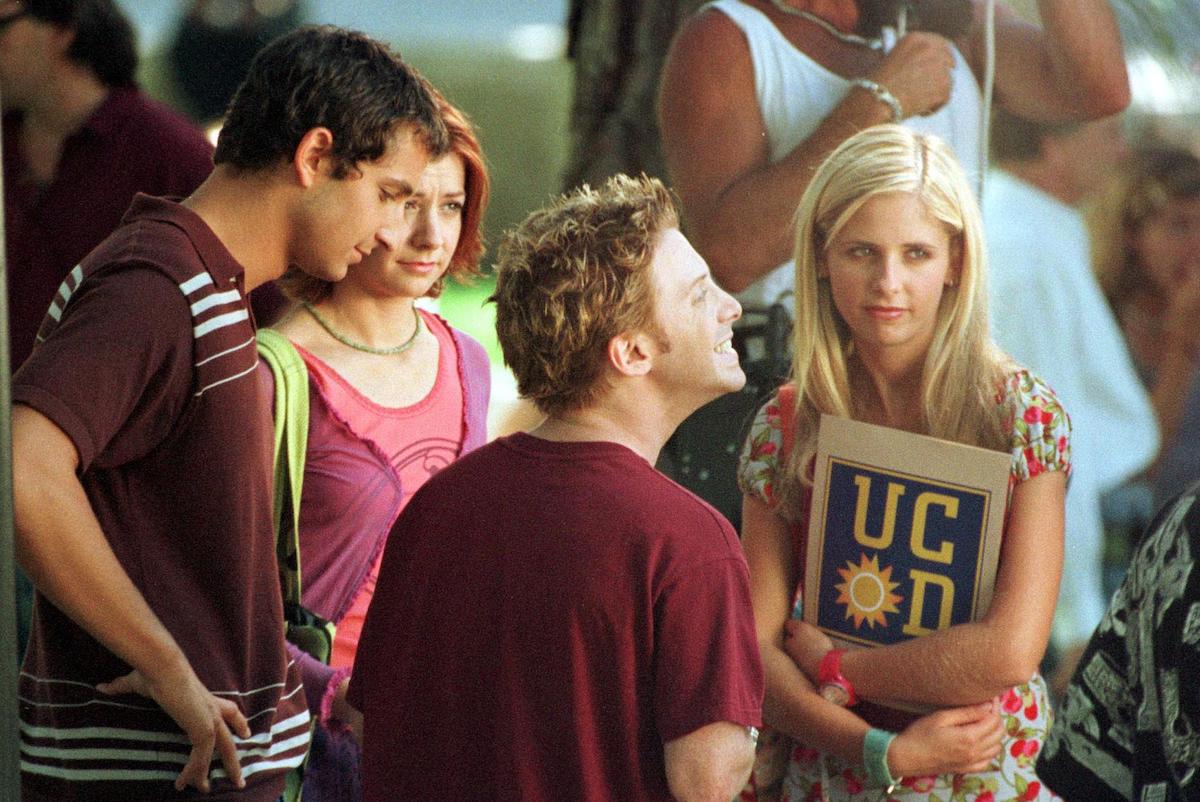
<path fill-rule="evenodd" d="M 730 800 L 762 666 L 737 534 L 654 469 L 742 387 L 738 303 L 655 179 L 533 213 L 497 333 L 546 420 L 421 486 L 392 527 L 348 699 L 364 798 Z"/>

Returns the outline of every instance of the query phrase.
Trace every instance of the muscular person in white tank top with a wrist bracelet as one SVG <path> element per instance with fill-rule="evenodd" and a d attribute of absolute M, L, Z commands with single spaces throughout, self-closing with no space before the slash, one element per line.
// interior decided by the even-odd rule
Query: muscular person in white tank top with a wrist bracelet
<path fill-rule="evenodd" d="M 902 121 L 936 133 L 968 173 L 978 172 L 984 0 L 964 0 L 970 19 L 953 41 L 911 31 L 874 49 L 846 35 L 860 12 L 880 5 L 718 0 L 685 22 L 671 46 L 659 96 L 667 170 L 690 237 L 748 309 L 791 291 L 800 194 L 816 166 L 856 131 Z M 1040 29 L 996 6 L 996 101 L 1036 119 L 1124 108 L 1129 83 L 1109 4 L 1038 0 L 1038 8 Z"/>

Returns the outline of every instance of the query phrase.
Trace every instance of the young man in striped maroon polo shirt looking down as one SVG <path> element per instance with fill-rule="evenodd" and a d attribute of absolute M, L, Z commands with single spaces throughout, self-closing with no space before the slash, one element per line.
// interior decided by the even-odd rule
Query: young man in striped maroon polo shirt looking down
<path fill-rule="evenodd" d="M 38 591 L 25 800 L 278 797 L 310 713 L 246 293 L 394 246 L 445 148 L 395 54 L 301 29 L 252 65 L 196 193 L 138 196 L 64 282 L 13 381 L 17 553 Z"/>

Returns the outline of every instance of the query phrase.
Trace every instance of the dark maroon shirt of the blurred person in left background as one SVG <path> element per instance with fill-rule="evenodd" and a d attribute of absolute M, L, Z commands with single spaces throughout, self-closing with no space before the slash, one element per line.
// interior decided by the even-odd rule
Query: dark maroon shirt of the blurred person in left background
<path fill-rule="evenodd" d="M 83 127 L 67 137 L 48 185 L 32 179 L 20 134 L 22 114 L 5 114 L 13 370 L 34 348 L 34 335 L 59 283 L 113 233 L 133 196 L 187 196 L 212 169 L 212 146 L 196 126 L 134 88 L 114 89 Z"/>

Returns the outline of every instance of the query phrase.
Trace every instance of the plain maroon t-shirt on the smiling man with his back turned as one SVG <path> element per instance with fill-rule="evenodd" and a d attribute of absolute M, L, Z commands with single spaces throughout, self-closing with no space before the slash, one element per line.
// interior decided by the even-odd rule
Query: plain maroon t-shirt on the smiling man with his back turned
<path fill-rule="evenodd" d="M 616 443 L 493 442 L 388 541 L 350 701 L 367 801 L 670 800 L 664 742 L 760 725 L 737 537 Z"/>

